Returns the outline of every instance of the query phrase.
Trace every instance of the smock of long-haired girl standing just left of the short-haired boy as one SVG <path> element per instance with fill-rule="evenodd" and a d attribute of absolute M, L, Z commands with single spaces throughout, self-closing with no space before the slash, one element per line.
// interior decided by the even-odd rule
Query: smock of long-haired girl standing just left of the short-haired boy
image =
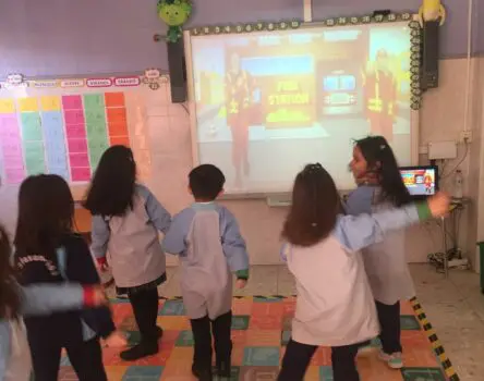
<path fill-rule="evenodd" d="M 149 284 L 166 272 L 158 231 L 166 233 L 170 222 L 170 213 L 152 192 L 136 184 L 133 209 L 124 216 L 93 216 L 90 249 L 96 259 L 108 256 L 118 287 Z"/>

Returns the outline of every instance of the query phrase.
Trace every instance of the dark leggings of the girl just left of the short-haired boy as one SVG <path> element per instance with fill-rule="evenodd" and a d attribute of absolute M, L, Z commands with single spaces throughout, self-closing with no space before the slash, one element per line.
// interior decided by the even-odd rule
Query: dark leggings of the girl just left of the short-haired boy
<path fill-rule="evenodd" d="M 142 343 L 157 343 L 158 288 L 137 290 L 134 293 L 129 292 L 128 296 L 133 306 L 133 314 L 140 329 Z"/>

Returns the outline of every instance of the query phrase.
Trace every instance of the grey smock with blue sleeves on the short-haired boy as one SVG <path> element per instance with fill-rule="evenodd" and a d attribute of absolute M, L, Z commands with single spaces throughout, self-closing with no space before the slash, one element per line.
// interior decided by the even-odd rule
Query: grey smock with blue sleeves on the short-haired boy
<path fill-rule="evenodd" d="M 180 286 L 190 319 L 214 320 L 232 308 L 232 275 L 246 279 L 249 255 L 232 213 L 215 202 L 197 202 L 173 218 L 162 243 L 180 255 Z"/>

